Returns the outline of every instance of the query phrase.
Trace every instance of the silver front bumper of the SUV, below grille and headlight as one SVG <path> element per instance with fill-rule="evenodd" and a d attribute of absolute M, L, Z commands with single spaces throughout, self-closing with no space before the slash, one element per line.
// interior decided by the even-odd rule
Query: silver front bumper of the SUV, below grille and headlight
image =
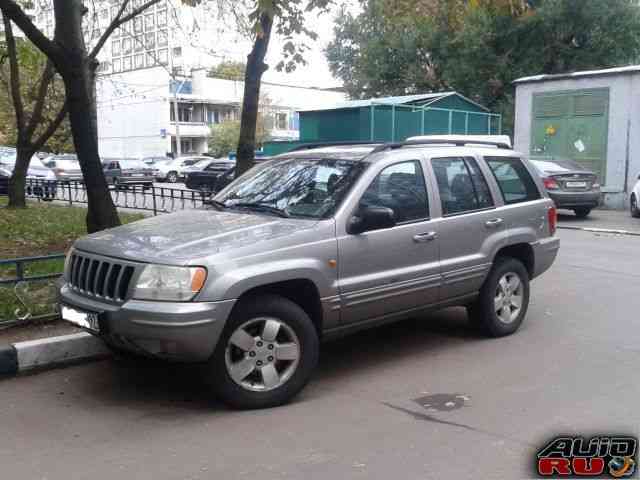
<path fill-rule="evenodd" d="M 205 361 L 213 354 L 235 304 L 235 300 L 129 300 L 114 305 L 78 295 L 66 284 L 60 288 L 59 301 L 80 310 L 97 312 L 99 336 L 110 345 L 183 362 Z"/>

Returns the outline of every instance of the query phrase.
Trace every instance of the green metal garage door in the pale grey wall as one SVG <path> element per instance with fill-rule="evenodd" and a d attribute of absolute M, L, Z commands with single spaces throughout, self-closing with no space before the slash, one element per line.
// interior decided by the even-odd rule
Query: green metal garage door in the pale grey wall
<path fill-rule="evenodd" d="M 604 183 L 609 89 L 535 94 L 531 153 L 571 158 Z"/>

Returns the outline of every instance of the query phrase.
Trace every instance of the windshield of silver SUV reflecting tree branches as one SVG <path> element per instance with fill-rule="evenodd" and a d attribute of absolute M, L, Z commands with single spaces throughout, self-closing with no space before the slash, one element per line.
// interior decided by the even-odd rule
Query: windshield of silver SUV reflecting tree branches
<path fill-rule="evenodd" d="M 222 190 L 222 207 L 278 209 L 287 216 L 327 218 L 367 164 L 353 160 L 292 158 L 254 167 Z"/>

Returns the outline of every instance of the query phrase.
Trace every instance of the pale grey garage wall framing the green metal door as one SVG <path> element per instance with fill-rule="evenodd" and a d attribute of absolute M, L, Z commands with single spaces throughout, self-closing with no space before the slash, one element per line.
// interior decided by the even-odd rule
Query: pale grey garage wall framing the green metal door
<path fill-rule="evenodd" d="M 592 88 L 609 89 L 606 185 L 602 191 L 606 206 L 622 208 L 640 174 L 640 73 L 517 84 L 514 146 L 524 154 L 530 153 L 535 93 Z"/>

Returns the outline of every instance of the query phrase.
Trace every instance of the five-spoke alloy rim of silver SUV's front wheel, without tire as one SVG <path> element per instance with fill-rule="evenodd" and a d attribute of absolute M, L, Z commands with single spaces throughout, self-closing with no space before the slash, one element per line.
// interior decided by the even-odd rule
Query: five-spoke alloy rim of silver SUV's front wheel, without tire
<path fill-rule="evenodd" d="M 240 325 L 229 337 L 225 364 L 231 379 L 253 392 L 274 390 L 295 373 L 300 341 L 282 320 L 260 317 Z"/>

